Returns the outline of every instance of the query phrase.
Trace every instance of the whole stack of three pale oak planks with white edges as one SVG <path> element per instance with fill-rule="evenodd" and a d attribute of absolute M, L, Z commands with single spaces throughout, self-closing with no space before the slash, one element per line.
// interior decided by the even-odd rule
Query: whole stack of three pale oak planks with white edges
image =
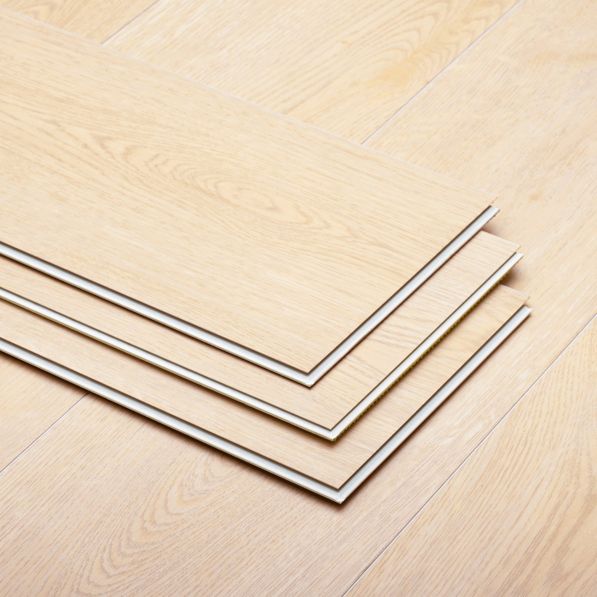
<path fill-rule="evenodd" d="M 0 34 L 0 350 L 341 503 L 530 312 L 488 193 Z"/>

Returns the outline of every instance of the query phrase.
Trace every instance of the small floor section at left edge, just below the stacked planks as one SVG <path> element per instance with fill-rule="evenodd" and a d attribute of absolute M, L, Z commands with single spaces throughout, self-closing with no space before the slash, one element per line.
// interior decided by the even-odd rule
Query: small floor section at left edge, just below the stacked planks
<path fill-rule="evenodd" d="M 10 356 L 0 355 L 0 470 L 85 393 Z"/>

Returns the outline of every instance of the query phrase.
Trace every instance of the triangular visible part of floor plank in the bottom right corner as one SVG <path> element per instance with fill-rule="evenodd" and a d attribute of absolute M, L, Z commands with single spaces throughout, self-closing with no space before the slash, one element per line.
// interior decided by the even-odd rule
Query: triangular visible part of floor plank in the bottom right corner
<path fill-rule="evenodd" d="M 595 595 L 597 322 L 349 595 Z"/>

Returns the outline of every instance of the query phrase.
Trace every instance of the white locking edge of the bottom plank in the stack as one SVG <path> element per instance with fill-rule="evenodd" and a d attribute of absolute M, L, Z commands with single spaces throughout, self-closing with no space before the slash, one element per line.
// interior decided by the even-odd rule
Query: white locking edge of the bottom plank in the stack
<path fill-rule="evenodd" d="M 33 367 L 38 367 L 51 375 L 60 377 L 88 392 L 97 394 L 122 407 L 128 408 L 137 414 L 150 418 L 153 421 L 164 424 L 171 429 L 184 433 L 193 439 L 220 450 L 230 456 L 239 458 L 260 469 L 266 470 L 285 481 L 289 481 L 298 487 L 312 491 L 321 497 L 334 501 L 337 504 L 343 503 L 356 488 L 361 485 L 371 473 L 374 472 L 386 458 L 388 458 L 405 439 L 408 438 L 423 421 L 450 396 L 456 388 L 470 376 L 473 371 L 524 321 L 531 309 L 522 306 L 502 327 L 473 355 L 433 396 L 405 423 L 365 464 L 363 464 L 342 487 L 335 489 L 320 481 L 316 481 L 307 475 L 298 473 L 296 470 L 282 464 L 276 463 L 247 448 L 243 448 L 229 440 L 223 439 L 213 433 L 207 432 L 200 427 L 187 423 L 186 421 L 173 417 L 172 415 L 152 407 L 136 398 L 127 396 L 110 387 L 97 383 L 88 377 L 82 376 L 75 371 L 45 359 L 35 353 L 24 350 L 16 344 L 12 344 L 0 338 L 0 352 L 20 359 Z"/>

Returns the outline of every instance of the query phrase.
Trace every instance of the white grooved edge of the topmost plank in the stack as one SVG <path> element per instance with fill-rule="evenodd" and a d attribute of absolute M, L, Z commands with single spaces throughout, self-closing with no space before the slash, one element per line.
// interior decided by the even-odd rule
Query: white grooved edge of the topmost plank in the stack
<path fill-rule="evenodd" d="M 220 350 L 229 352 L 232 355 L 245 359 L 254 365 L 259 365 L 264 369 L 273 371 L 281 376 L 287 377 L 293 381 L 303 384 L 304 386 L 312 386 L 319 378 L 321 378 L 327 371 L 329 371 L 344 355 L 346 355 L 359 341 L 362 340 L 371 330 L 373 330 L 381 321 L 383 321 L 396 307 L 405 301 L 411 294 L 423 284 L 436 270 L 439 269 L 450 257 L 458 251 L 467 241 L 469 241 L 481 228 L 498 212 L 498 209 L 493 205 L 487 207 L 475 220 L 473 220 L 453 241 L 450 242 L 440 253 L 438 253 L 426 266 L 423 267 L 416 275 L 413 276 L 402 288 L 400 288 L 389 300 L 379 307 L 372 315 L 353 331 L 350 336 L 347 336 L 342 343 L 338 344 L 323 361 L 321 361 L 309 373 L 299 371 L 294 367 L 285 365 L 282 362 L 276 361 L 268 356 L 262 355 L 255 350 L 248 349 L 245 346 L 236 344 L 226 338 L 217 336 L 207 330 L 203 330 L 186 321 L 168 315 L 158 309 L 154 309 L 147 304 L 124 296 L 124 294 L 116 293 L 109 288 L 96 284 L 86 278 L 82 278 L 74 273 L 57 267 L 47 261 L 38 259 L 33 255 L 24 253 L 17 248 L 10 247 L 10 245 L 0 242 L 0 255 L 18 261 L 23 265 L 32 267 L 39 272 L 45 273 L 48 276 L 57 278 L 66 284 L 70 284 L 76 288 L 84 290 L 90 294 L 94 294 L 104 300 L 118 304 L 125 309 L 133 311 L 138 315 L 152 319 L 162 325 L 173 328 L 187 336 L 195 338 L 210 344 Z"/>

